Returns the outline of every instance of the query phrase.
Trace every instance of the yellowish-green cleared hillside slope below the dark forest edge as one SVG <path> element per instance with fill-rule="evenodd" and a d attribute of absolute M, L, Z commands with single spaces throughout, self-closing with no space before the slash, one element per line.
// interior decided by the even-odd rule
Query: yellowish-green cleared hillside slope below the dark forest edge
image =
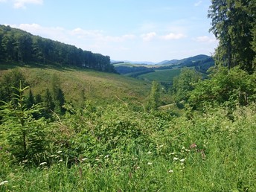
<path fill-rule="evenodd" d="M 3 68 L 3 65 L 0 67 L 0 77 L 13 68 Z M 144 103 L 151 87 L 150 83 L 143 80 L 92 70 L 28 66 L 16 68 L 25 74 L 34 94 L 43 94 L 45 89 L 51 89 L 51 78 L 56 74 L 66 100 L 80 100 L 80 92 L 84 89 L 86 99 L 99 104 L 121 102 L 118 98 L 127 102 L 137 100 Z"/>

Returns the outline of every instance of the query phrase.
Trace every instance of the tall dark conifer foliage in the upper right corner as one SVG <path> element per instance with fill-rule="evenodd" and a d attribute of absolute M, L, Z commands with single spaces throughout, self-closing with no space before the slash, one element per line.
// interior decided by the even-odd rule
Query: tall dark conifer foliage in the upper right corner
<path fill-rule="evenodd" d="M 240 0 L 211 1 L 208 17 L 211 31 L 219 39 L 214 59 L 217 65 L 228 68 L 240 66 L 252 73 L 255 50 L 252 48 L 255 27 L 255 2 Z"/>

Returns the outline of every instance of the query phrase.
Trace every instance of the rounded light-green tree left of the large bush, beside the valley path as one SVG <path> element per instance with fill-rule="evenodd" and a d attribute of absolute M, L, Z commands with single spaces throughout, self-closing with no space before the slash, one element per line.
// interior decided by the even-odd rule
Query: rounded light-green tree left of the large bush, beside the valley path
<path fill-rule="evenodd" d="M 173 92 L 176 102 L 188 100 L 190 92 L 202 76 L 191 68 L 182 68 L 181 74 L 173 78 Z"/>

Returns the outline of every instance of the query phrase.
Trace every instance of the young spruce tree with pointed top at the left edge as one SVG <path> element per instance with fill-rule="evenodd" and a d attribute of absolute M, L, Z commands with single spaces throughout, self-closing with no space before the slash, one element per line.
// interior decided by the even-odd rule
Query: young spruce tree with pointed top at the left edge
<path fill-rule="evenodd" d="M 1 126 L 1 142 L 5 150 L 10 153 L 10 159 L 14 161 L 36 163 L 39 161 L 39 154 L 45 150 L 45 132 L 42 119 L 35 120 L 33 114 L 41 110 L 39 105 L 27 108 L 27 101 L 24 92 L 28 86 L 13 88 L 18 94 L 14 94 L 16 105 L 13 101 L 4 102 L 1 107 L 3 117 Z"/>

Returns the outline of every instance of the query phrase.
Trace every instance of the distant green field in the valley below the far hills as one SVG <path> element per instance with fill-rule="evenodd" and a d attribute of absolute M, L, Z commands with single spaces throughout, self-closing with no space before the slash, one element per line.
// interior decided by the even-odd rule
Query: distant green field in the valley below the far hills
<path fill-rule="evenodd" d="M 159 81 L 164 83 L 173 82 L 173 77 L 176 77 L 180 74 L 181 69 L 165 69 L 165 70 L 156 70 L 153 73 L 141 74 L 138 77 L 147 81 Z"/>

